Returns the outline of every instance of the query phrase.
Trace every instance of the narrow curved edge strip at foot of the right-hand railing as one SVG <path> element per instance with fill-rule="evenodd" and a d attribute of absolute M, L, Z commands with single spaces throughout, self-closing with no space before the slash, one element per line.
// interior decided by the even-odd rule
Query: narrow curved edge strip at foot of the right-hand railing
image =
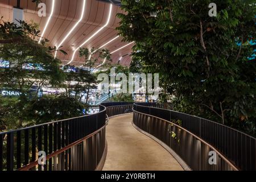
<path fill-rule="evenodd" d="M 177 162 L 184 169 L 184 171 L 192 171 L 191 168 L 180 158 L 180 156 L 177 155 L 176 152 L 173 151 L 169 146 L 167 146 L 167 144 L 163 143 L 161 140 L 159 140 L 158 138 L 154 137 L 153 135 L 147 133 L 146 131 L 143 131 L 142 129 L 140 129 L 138 126 L 136 126 L 134 124 L 133 121 L 131 121 L 131 124 L 133 125 L 133 127 L 136 130 L 138 130 L 142 134 L 146 135 L 147 137 L 152 138 L 153 140 L 155 140 L 155 142 L 159 143 L 160 146 L 162 146 L 164 149 L 166 149 L 177 160 Z"/>

